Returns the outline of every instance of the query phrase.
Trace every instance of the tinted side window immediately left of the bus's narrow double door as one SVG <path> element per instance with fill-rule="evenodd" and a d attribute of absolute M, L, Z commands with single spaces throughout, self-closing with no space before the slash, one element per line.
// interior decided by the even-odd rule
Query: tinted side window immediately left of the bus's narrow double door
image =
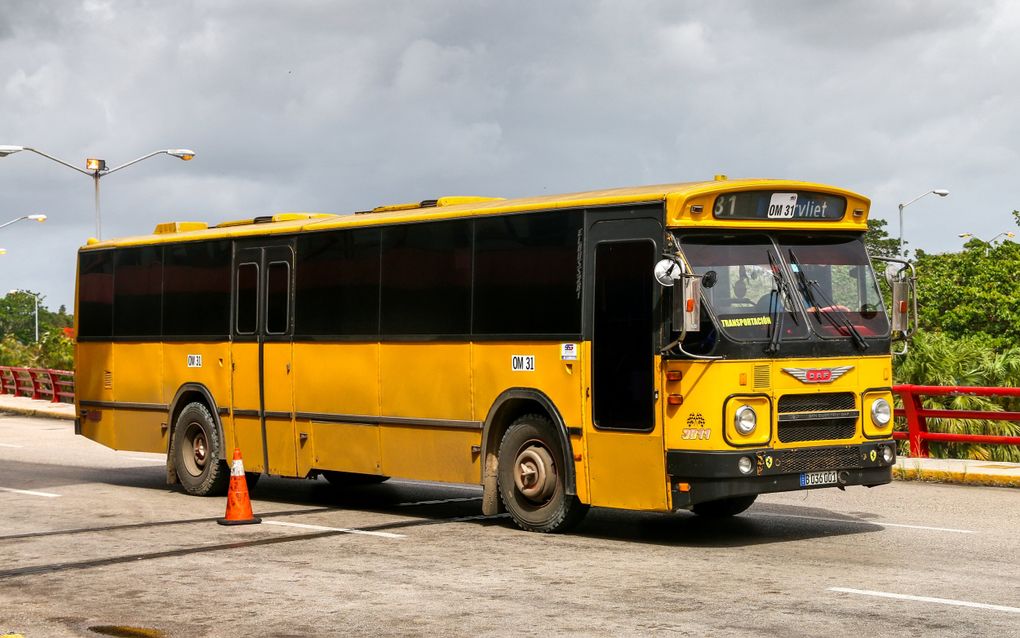
<path fill-rule="evenodd" d="M 165 247 L 163 334 L 225 338 L 231 309 L 230 241 Z"/>

